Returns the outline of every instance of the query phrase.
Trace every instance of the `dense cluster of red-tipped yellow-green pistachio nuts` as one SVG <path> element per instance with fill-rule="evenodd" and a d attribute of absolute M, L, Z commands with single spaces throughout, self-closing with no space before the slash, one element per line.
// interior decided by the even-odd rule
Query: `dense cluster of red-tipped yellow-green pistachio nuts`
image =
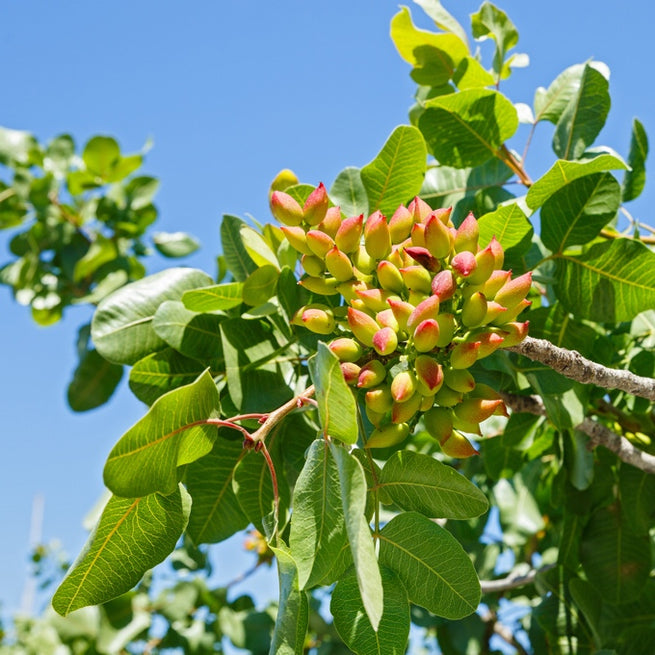
<path fill-rule="evenodd" d="M 300 284 L 345 300 L 302 307 L 293 322 L 335 334 L 329 347 L 375 426 L 367 446 L 399 443 L 422 415 L 446 454 L 474 454 L 461 432 L 481 434 L 480 422 L 506 408 L 467 369 L 527 335 L 517 317 L 530 305 L 531 273 L 512 279 L 495 237 L 479 247 L 473 214 L 455 228 L 450 208 L 418 197 L 389 220 L 342 218 L 323 184 L 304 206 L 275 191 L 271 208 L 301 255 Z"/>

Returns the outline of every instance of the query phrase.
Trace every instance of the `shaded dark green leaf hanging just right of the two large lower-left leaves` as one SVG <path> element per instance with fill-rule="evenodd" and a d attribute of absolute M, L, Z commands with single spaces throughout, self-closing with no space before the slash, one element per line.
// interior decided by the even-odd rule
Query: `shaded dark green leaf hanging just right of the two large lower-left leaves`
<path fill-rule="evenodd" d="M 193 499 L 187 532 L 195 544 L 218 543 L 248 525 L 232 484 L 245 453 L 241 439 L 219 437 L 208 455 L 187 467 L 185 482 Z"/>

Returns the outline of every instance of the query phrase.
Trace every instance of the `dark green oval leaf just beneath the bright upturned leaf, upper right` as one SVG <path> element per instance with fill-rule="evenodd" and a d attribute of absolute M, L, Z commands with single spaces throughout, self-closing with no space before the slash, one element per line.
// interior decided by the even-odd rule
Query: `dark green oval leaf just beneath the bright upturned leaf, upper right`
<path fill-rule="evenodd" d="M 541 208 L 541 240 L 561 253 L 596 238 L 619 210 L 621 187 L 611 173 L 585 175 L 558 189 Z"/>

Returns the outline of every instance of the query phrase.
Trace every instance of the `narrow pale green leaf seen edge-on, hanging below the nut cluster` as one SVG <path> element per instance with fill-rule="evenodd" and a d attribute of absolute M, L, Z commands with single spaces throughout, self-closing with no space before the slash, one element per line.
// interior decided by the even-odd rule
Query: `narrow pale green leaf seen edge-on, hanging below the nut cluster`
<path fill-rule="evenodd" d="M 342 447 L 330 443 L 330 451 L 339 473 L 341 505 L 360 598 L 373 630 L 377 630 L 382 617 L 383 591 L 371 529 L 365 516 L 366 477 L 359 461 Z"/>

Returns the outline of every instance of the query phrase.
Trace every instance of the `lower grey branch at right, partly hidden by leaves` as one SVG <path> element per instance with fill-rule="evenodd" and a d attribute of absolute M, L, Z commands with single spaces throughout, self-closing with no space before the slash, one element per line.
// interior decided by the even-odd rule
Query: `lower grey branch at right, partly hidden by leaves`
<path fill-rule="evenodd" d="M 503 392 L 500 395 L 505 401 L 505 404 L 514 412 L 546 416 L 546 408 L 536 396 L 519 396 Z M 575 426 L 575 429 L 584 432 L 589 437 L 590 449 L 596 446 L 603 446 L 611 450 L 626 464 L 630 464 L 646 473 L 655 474 L 655 456 L 633 446 L 625 437 L 612 432 L 612 430 L 602 425 L 602 423 L 585 418 L 580 425 Z"/>

